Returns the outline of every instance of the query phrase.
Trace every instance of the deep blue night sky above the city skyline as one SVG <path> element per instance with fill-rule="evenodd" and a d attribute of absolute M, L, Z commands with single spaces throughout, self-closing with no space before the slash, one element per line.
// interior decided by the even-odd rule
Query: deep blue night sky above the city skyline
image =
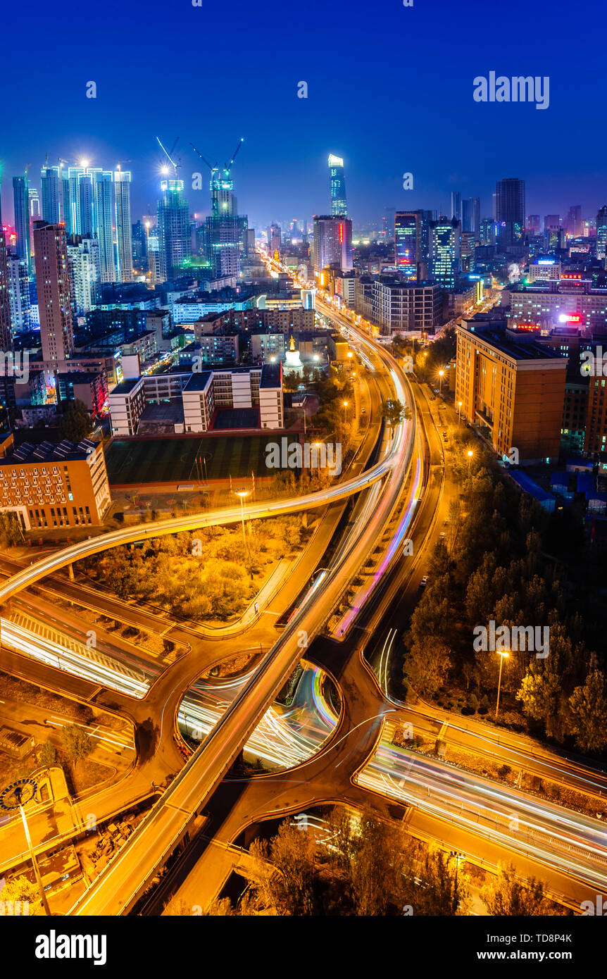
<path fill-rule="evenodd" d="M 606 30 L 603 3 L 564 0 L 6 0 L 4 216 L 10 178 L 31 163 L 39 188 L 48 153 L 132 161 L 135 220 L 156 208 L 155 137 L 170 147 L 177 134 L 186 188 L 202 166 L 190 141 L 212 163 L 245 136 L 235 189 L 254 226 L 327 210 L 329 152 L 346 159 L 355 222 L 387 207 L 447 210 L 452 189 L 480 196 L 490 216 L 504 176 L 526 180 L 528 213 L 582 204 L 594 215 L 607 201 Z M 549 75 L 549 109 L 475 103 L 473 78 L 490 70 Z M 402 190 L 404 171 L 414 191 Z M 187 197 L 209 210 L 206 173 Z"/>

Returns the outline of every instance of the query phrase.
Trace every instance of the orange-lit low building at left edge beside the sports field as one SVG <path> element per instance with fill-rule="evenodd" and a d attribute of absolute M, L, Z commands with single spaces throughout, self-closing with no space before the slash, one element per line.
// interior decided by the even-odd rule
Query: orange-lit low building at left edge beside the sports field
<path fill-rule="evenodd" d="M 89 439 L 23 443 L 0 458 L 0 510 L 23 531 L 99 525 L 111 502 L 103 446 Z"/>

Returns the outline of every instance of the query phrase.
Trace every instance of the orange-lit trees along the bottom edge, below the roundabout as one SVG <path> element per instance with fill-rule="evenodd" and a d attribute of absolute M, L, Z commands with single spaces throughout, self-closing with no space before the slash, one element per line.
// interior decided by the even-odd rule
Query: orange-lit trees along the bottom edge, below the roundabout
<path fill-rule="evenodd" d="M 370 813 L 352 817 L 342 807 L 328 814 L 322 833 L 285 820 L 270 840 L 250 848 L 249 887 L 239 905 L 222 900 L 210 915 L 465 915 L 470 878 L 461 858 L 427 847 Z M 519 880 L 500 867 L 481 892 L 495 915 L 558 913 L 542 884 Z M 173 900 L 168 913 L 187 914 Z"/>

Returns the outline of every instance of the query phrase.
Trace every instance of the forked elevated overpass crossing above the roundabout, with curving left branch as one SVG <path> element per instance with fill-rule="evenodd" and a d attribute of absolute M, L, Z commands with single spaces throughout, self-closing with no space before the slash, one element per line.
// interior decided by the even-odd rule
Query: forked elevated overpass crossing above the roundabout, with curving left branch
<path fill-rule="evenodd" d="M 173 780 L 162 799 L 142 821 L 115 860 L 74 905 L 70 911 L 72 914 L 116 915 L 128 913 L 129 909 L 132 909 L 167 854 L 184 837 L 188 827 L 201 813 L 211 792 L 229 769 L 242 745 L 249 739 L 285 678 L 302 659 L 305 649 L 323 628 L 352 578 L 372 553 L 378 539 L 390 523 L 413 458 L 415 444 L 413 397 L 408 382 L 394 357 L 361 331 L 351 326 L 349 330 L 350 336 L 357 344 L 375 353 L 383 363 L 392 382 L 393 396 L 411 409 L 411 420 L 395 427 L 387 455 L 368 472 L 341 486 L 299 499 L 254 504 L 247 507 L 246 514 L 247 517 L 254 518 L 308 509 L 319 503 L 332 502 L 351 492 L 366 489 L 377 480 L 384 480 L 377 505 L 364 521 L 350 528 L 347 544 L 341 549 L 339 559 L 332 564 L 325 576 L 322 588 L 310 593 L 308 600 L 303 603 L 280 639 L 261 661 L 255 674 L 238 693 L 207 740 Z M 95 553 L 108 545 L 111 546 L 110 538 L 115 538 L 117 543 L 123 543 L 126 539 L 159 536 L 159 530 L 161 533 L 169 534 L 177 530 L 211 526 L 212 523 L 236 522 L 240 518 L 240 508 L 226 508 L 223 511 L 216 511 L 213 515 L 202 514 L 196 518 L 179 518 L 163 522 L 156 527 L 147 525 L 143 535 L 142 529 L 119 531 L 98 540 L 86 541 L 84 549 L 86 553 Z M 60 555 L 40 562 L 47 566 L 51 565 L 42 574 L 33 568 L 28 569 L 22 576 L 18 576 L 22 582 L 17 583 L 17 586 L 14 581 L 4 585 L 0 588 L 0 601 L 14 593 L 11 591 L 11 586 L 17 591 L 19 587 L 36 581 L 49 570 L 55 570 L 52 566 L 53 560 L 61 562 L 55 567 L 77 560 L 79 556 L 83 556 L 77 553 L 81 547 L 82 545 L 75 545 Z M 69 551 L 71 554 L 68 553 Z M 34 577 L 28 580 L 28 573 Z"/>

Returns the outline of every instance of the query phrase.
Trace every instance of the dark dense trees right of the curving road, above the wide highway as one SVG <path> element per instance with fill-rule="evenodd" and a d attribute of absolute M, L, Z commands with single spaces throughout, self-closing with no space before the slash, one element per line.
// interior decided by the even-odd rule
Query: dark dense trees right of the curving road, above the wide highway
<path fill-rule="evenodd" d="M 587 646 L 582 617 L 568 611 L 565 567 L 545 554 L 550 517 L 506 482 L 478 444 L 468 476 L 465 438 L 456 433 L 454 453 L 463 500 L 451 504 L 448 535 L 411 617 L 405 679 L 422 695 L 435 696 L 449 676 L 475 696 L 493 695 L 501 658 L 474 651 L 474 629 L 489 628 L 491 620 L 510 629 L 545 627 L 547 655 L 510 650 L 501 689 L 516 697 L 538 732 L 600 753 L 607 748 L 604 663 Z"/>

